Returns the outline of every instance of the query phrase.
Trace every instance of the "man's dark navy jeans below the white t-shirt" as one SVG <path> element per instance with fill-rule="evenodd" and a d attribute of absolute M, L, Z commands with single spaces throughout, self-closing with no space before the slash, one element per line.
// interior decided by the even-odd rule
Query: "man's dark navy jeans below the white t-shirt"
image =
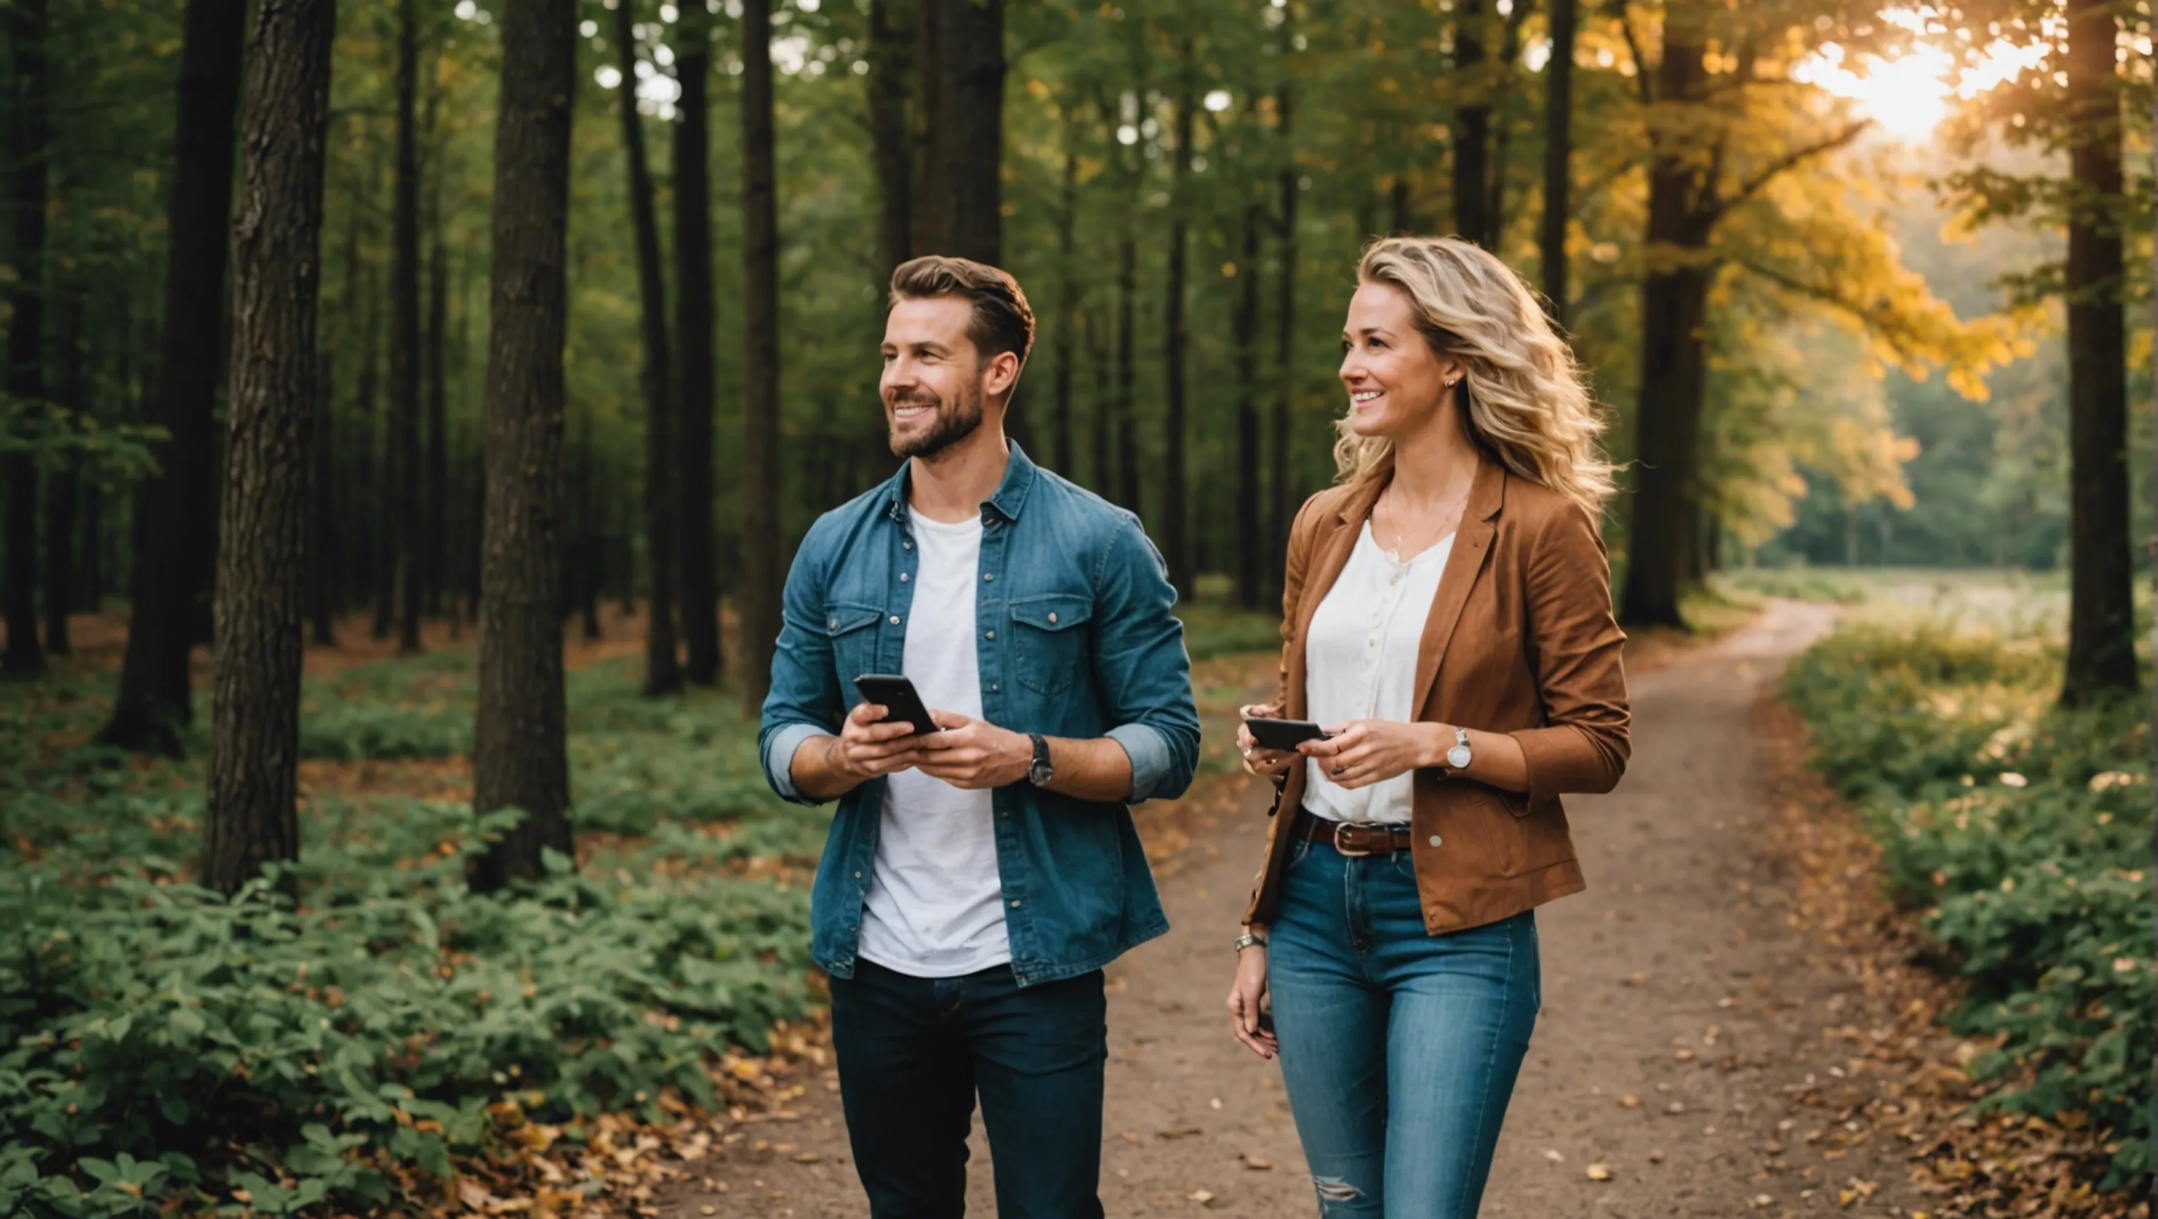
<path fill-rule="evenodd" d="M 857 962 L 831 980 L 831 1040 L 874 1219 L 967 1213 L 982 1094 L 999 1219 L 1101 1219 L 1101 971 L 1021 988 L 999 964 L 909 977 Z"/>

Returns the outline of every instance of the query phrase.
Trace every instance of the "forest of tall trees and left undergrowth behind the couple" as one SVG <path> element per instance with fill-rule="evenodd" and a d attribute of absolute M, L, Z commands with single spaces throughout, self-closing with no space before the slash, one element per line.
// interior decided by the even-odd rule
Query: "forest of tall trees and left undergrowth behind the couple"
<path fill-rule="evenodd" d="M 0 1210 L 401 1213 L 505 1105 L 725 1109 L 708 1062 L 814 1027 L 820 831 L 745 738 L 794 544 L 896 466 L 921 252 L 1025 287 L 1012 438 L 1142 516 L 1196 658 L 1271 645 L 1357 250 L 1452 233 L 1603 403 L 1629 630 L 1763 570 L 2059 572 L 2044 714 L 2139 738 L 2063 766 L 2147 775 L 2152 37 L 2145 0 L 0 0 Z M 2098 1092 L 2117 1187 L 2147 1115 Z"/>

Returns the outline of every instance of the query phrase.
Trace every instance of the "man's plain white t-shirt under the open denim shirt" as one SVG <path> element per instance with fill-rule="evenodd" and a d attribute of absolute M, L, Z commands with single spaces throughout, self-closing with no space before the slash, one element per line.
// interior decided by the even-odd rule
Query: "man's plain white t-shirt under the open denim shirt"
<path fill-rule="evenodd" d="M 943 524 L 913 513 L 913 535 L 921 567 L 900 671 L 930 710 L 982 718 L 973 617 L 982 518 Z M 913 977 L 958 977 L 1012 960 L 993 818 L 986 787 L 967 792 L 919 770 L 885 779 L 863 960 Z"/>

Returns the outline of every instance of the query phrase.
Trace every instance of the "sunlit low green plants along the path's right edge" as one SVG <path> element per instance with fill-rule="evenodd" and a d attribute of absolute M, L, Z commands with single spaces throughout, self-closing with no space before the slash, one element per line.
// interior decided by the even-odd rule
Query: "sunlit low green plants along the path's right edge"
<path fill-rule="evenodd" d="M 2059 671 L 2044 636 L 1875 624 L 1813 647 L 1785 693 L 1970 982 L 1951 1025 L 1998 1038 L 1972 1062 L 1998 1083 L 1981 1105 L 2089 1111 L 2119 1189 L 2152 1163 L 2149 740 L 2132 701 L 2057 710 Z"/>

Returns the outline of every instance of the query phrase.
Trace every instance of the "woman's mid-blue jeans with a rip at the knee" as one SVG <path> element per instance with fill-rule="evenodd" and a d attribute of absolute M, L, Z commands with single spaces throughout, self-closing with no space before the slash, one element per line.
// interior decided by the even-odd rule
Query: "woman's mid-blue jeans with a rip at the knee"
<path fill-rule="evenodd" d="M 1267 947 L 1325 1219 L 1474 1219 L 1543 1003 L 1536 917 L 1424 932 L 1407 850 L 1297 841 Z"/>

